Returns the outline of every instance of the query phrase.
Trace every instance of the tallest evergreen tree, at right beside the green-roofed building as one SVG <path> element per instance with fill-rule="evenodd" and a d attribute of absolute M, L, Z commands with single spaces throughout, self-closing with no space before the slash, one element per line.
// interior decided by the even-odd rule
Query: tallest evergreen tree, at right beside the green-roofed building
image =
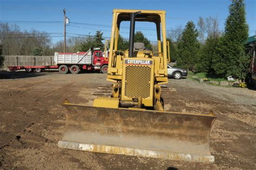
<path fill-rule="evenodd" d="M 220 39 L 219 56 L 214 60 L 214 71 L 221 77 L 245 78 L 249 58 L 245 53 L 244 42 L 248 37 L 248 25 L 244 0 L 232 0 L 230 15 L 225 24 L 224 37 Z"/>

